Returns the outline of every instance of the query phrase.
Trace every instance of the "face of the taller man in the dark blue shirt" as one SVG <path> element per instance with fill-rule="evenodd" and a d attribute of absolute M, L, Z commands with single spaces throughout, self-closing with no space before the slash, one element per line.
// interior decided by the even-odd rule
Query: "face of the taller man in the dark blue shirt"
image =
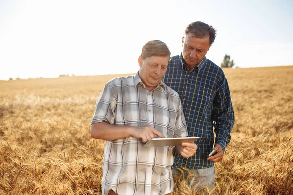
<path fill-rule="evenodd" d="M 209 50 L 209 37 L 204 39 L 192 37 L 192 33 L 188 33 L 182 37 L 182 56 L 189 68 L 200 63 Z"/>

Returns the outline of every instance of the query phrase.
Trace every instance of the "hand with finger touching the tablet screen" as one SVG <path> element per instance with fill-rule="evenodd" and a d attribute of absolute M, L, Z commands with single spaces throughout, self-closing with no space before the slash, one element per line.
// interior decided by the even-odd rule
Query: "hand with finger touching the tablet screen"
<path fill-rule="evenodd" d="M 137 139 L 142 139 L 144 143 L 155 137 L 165 138 L 158 130 L 151 125 L 144 127 L 134 127 L 131 131 L 131 136 Z"/>

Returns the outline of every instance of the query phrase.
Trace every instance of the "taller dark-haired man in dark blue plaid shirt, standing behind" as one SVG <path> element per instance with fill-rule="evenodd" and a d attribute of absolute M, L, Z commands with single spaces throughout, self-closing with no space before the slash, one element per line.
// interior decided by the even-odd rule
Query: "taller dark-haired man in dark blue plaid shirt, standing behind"
<path fill-rule="evenodd" d="M 200 21 L 189 24 L 182 37 L 182 53 L 171 58 L 162 79 L 181 98 L 188 136 L 201 137 L 195 142 L 197 152 L 190 158 L 175 154 L 173 165 L 173 168 L 191 170 L 197 189 L 214 187 L 214 163 L 222 160 L 234 125 L 234 110 L 224 72 L 205 57 L 215 36 L 216 30 L 208 24 Z M 213 149 L 217 154 L 207 157 Z M 180 173 L 173 169 L 174 175 Z"/>

